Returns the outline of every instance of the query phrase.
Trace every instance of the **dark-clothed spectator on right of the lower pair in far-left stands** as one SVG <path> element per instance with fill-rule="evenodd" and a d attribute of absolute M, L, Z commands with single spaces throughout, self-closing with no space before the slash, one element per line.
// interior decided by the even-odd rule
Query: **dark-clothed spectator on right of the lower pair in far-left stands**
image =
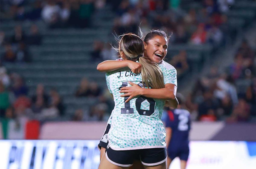
<path fill-rule="evenodd" d="M 19 42 L 18 50 L 16 52 L 16 62 L 30 62 L 30 54 L 24 42 Z"/>

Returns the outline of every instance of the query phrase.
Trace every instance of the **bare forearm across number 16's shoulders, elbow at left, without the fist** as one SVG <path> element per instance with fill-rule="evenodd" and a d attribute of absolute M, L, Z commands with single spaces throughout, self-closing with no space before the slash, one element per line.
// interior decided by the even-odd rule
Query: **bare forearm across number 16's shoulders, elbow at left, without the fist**
<path fill-rule="evenodd" d="M 98 64 L 97 70 L 101 72 L 113 71 L 123 67 L 127 67 L 126 61 L 104 61 Z"/>

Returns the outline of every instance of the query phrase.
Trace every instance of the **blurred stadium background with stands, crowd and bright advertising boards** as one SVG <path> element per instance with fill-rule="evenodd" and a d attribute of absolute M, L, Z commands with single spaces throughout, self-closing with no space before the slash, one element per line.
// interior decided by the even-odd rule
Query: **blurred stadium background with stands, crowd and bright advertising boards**
<path fill-rule="evenodd" d="M 166 61 L 193 119 L 187 168 L 256 166 L 255 0 L 0 3 L 0 168 L 98 167 L 114 103 L 96 67 L 117 58 L 112 33 L 139 25 L 172 34 Z"/>

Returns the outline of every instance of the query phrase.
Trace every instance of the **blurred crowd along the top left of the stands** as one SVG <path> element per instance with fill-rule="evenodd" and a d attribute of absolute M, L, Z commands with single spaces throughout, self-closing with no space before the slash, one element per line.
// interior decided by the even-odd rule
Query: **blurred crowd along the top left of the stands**
<path fill-rule="evenodd" d="M 50 28 L 86 28 L 95 8 L 105 5 L 104 0 L 1 0 L 1 14 L 5 19 L 44 20 Z"/>

